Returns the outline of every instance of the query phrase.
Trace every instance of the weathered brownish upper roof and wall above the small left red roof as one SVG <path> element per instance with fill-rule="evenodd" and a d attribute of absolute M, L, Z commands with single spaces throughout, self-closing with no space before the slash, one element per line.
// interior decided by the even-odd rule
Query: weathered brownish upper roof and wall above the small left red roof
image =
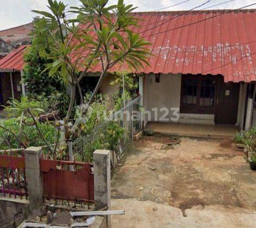
<path fill-rule="evenodd" d="M 28 23 L 10 29 L 0 31 L 0 38 L 7 42 L 11 47 L 18 48 L 21 45 L 29 45 L 31 43 L 34 24 Z"/>

